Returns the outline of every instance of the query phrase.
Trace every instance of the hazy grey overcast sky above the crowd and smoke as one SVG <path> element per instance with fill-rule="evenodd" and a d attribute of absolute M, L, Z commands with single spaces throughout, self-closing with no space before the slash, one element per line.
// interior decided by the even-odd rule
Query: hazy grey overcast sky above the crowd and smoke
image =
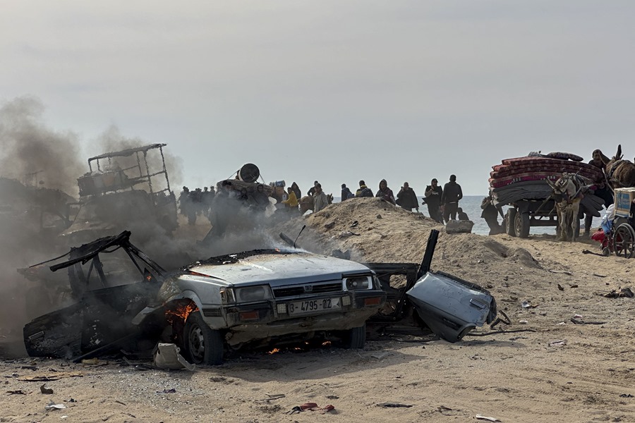
<path fill-rule="evenodd" d="M 634 22 L 632 0 L 4 0 L 0 102 L 39 97 L 85 157 L 111 124 L 165 142 L 179 186 L 253 162 L 304 192 L 483 195 L 531 150 L 635 156 Z"/>

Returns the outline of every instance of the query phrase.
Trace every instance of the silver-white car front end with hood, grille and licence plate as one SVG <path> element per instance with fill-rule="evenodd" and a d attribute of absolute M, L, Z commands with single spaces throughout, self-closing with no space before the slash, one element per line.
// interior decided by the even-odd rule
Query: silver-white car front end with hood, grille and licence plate
<path fill-rule="evenodd" d="M 183 317 L 183 328 L 176 319 L 173 332 L 186 357 L 219 364 L 226 346 L 247 343 L 334 337 L 345 348 L 363 348 L 365 321 L 386 293 L 375 272 L 356 262 L 255 250 L 186 266 L 165 279 L 159 298 Z"/>

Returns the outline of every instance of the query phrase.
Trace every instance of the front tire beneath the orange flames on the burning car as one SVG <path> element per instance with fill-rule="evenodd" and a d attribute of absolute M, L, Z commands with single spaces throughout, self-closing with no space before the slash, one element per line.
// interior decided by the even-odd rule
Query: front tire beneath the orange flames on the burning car
<path fill-rule="evenodd" d="M 207 326 L 200 312 L 188 316 L 183 328 L 183 348 L 194 364 L 215 366 L 223 362 L 223 337 L 220 331 Z"/>

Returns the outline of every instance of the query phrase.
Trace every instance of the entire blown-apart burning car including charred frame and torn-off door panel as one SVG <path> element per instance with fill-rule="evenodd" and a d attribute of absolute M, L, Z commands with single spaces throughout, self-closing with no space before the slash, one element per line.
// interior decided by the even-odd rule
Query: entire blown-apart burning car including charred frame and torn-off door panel
<path fill-rule="evenodd" d="M 430 271 L 435 230 L 422 264 L 359 264 L 276 249 L 212 257 L 178 271 L 152 261 L 130 235 L 99 238 L 49 266 L 68 269 L 76 302 L 25 325 L 29 355 L 79 361 L 122 348 L 151 350 L 158 341 L 179 345 L 195 364 L 221 364 L 228 351 L 247 346 L 334 341 L 363 348 L 367 323 L 406 319 L 456 342 L 497 316 L 487 290 Z M 110 257 L 117 252 L 121 257 Z M 405 286 L 394 288 L 394 277 Z"/>

